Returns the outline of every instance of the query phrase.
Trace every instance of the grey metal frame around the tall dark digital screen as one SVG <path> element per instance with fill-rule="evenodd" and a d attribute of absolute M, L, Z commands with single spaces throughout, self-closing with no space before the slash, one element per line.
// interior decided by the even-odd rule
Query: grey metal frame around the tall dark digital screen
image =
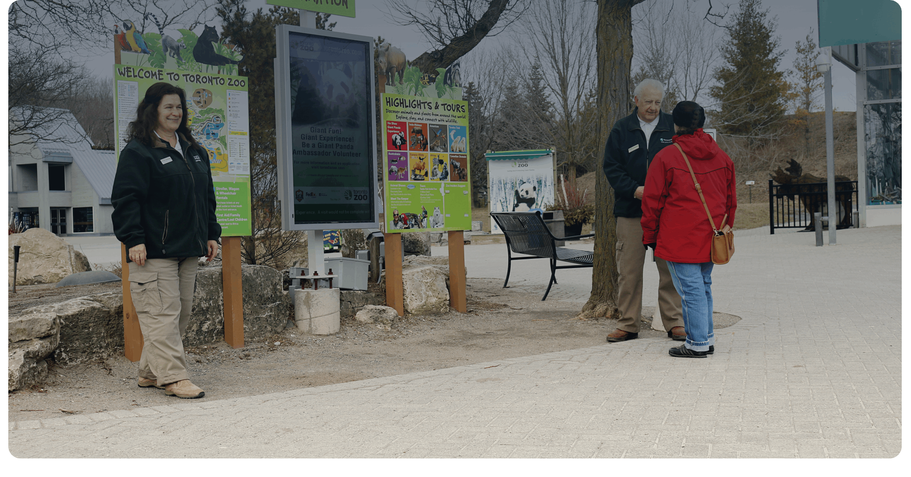
<path fill-rule="evenodd" d="M 367 77 L 370 89 L 368 91 L 370 108 L 369 108 L 369 135 L 370 147 L 368 148 L 368 171 L 370 174 L 370 191 L 371 213 L 373 214 L 370 221 L 344 221 L 344 222 L 325 222 L 313 224 L 295 224 L 292 217 L 294 210 L 294 175 L 292 159 L 292 107 L 291 107 L 291 64 L 288 60 L 291 54 L 289 38 L 292 33 L 306 34 L 312 36 L 324 36 L 333 39 L 351 40 L 362 42 L 367 45 L 366 67 L 364 72 Z M 376 85 L 374 81 L 374 39 L 370 36 L 351 35 L 341 32 L 328 30 L 318 30 L 316 28 L 306 28 L 296 25 L 277 25 L 275 27 L 275 139 L 276 139 L 276 166 L 278 167 L 278 188 L 279 201 L 281 207 L 281 229 L 282 230 L 327 230 L 339 228 L 379 228 L 379 183 L 376 172 L 376 105 L 374 102 Z M 283 203 L 282 203 L 283 202 Z"/>

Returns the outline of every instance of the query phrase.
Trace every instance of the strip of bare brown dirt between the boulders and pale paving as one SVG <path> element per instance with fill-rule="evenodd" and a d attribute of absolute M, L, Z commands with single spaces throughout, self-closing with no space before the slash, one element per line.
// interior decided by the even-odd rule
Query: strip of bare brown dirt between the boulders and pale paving
<path fill-rule="evenodd" d="M 386 331 L 343 320 L 342 331 L 319 337 L 288 328 L 232 350 L 223 341 L 186 350 L 191 380 L 218 400 L 358 381 L 421 370 L 573 350 L 605 342 L 613 320 L 575 320 L 578 303 L 540 301 L 498 279 L 468 280 L 468 313 L 412 317 Z M 98 291 L 100 292 L 100 291 Z M 85 293 L 83 293 L 84 295 Z M 642 314 L 650 317 L 653 309 Z M 715 328 L 740 318 L 715 314 Z M 642 338 L 665 337 L 642 323 Z M 668 340 L 668 347 L 677 341 Z M 69 367 L 51 366 L 43 386 L 7 393 L 7 421 L 157 406 L 179 401 L 136 385 L 137 363 L 115 357 Z"/>

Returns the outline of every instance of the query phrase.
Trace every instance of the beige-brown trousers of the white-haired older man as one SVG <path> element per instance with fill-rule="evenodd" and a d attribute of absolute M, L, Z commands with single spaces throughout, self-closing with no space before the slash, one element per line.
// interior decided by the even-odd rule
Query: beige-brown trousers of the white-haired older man
<path fill-rule="evenodd" d="M 617 308 L 620 318 L 617 329 L 638 333 L 642 320 L 642 269 L 645 267 L 645 247 L 642 246 L 640 218 L 617 218 Z M 670 279 L 668 262 L 655 257 L 658 265 L 658 309 L 664 329 L 683 326 L 681 296 Z"/>

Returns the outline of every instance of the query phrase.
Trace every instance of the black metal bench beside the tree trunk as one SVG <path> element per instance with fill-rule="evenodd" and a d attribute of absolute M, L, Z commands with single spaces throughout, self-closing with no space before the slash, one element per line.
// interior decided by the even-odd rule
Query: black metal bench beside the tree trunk
<path fill-rule="evenodd" d="M 550 259 L 550 281 L 548 281 L 548 290 L 544 292 L 544 298 L 541 301 L 548 299 L 550 287 L 557 283 L 557 269 L 592 267 L 594 252 L 557 247 L 556 242 L 593 237 L 595 234 L 554 237 L 547 224 L 544 223 L 544 219 L 537 212 L 491 212 L 490 217 L 496 220 L 496 225 L 503 230 L 507 238 L 507 279 L 503 282 L 503 288 L 507 288 L 509 283 L 509 272 L 512 271 L 513 260 Z M 532 257 L 513 257 L 513 252 Z M 573 265 L 558 266 L 558 260 Z"/>

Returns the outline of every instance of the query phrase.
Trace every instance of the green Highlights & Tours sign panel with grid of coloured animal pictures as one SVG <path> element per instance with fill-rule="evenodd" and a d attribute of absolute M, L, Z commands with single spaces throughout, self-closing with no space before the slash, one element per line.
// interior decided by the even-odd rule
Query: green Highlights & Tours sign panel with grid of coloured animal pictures
<path fill-rule="evenodd" d="M 468 102 L 383 95 L 386 232 L 471 230 Z"/>

